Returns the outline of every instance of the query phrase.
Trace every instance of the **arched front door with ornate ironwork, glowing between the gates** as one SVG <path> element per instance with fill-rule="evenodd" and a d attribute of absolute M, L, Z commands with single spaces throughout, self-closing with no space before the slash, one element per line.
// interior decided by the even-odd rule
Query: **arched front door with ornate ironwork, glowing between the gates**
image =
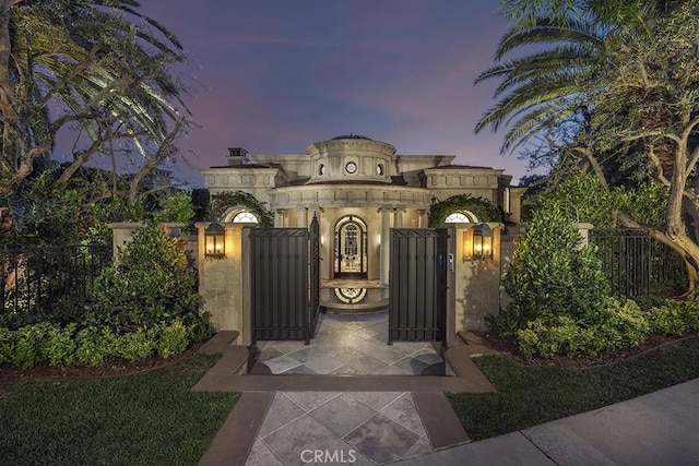
<path fill-rule="evenodd" d="M 359 217 L 346 215 L 335 224 L 335 278 L 366 278 L 367 224 Z"/>

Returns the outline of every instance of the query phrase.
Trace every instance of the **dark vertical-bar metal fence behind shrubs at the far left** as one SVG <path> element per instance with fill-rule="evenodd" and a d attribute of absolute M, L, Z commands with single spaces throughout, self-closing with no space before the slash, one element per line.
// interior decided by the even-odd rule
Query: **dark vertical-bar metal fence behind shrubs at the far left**
<path fill-rule="evenodd" d="M 67 298 L 85 302 L 110 261 L 105 246 L 0 250 L 0 312 L 37 320 Z"/>

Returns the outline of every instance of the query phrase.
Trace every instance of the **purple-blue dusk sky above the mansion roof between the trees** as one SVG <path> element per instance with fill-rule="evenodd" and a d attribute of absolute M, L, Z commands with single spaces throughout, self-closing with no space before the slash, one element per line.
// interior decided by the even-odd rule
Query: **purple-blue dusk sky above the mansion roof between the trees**
<path fill-rule="evenodd" d="M 225 165 L 227 147 L 304 154 L 362 134 L 399 154 L 448 154 L 503 168 L 501 134 L 474 135 L 495 82 L 473 85 L 506 24 L 493 0 L 143 0 L 140 11 L 181 40 L 198 127 L 179 142 L 193 167 Z M 201 178 L 185 175 L 193 184 Z"/>

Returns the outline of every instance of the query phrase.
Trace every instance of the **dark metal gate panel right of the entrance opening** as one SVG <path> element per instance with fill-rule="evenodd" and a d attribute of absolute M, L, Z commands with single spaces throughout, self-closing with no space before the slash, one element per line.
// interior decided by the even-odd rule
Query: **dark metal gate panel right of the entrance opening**
<path fill-rule="evenodd" d="M 447 230 L 392 229 L 389 345 L 443 342 L 446 302 Z"/>

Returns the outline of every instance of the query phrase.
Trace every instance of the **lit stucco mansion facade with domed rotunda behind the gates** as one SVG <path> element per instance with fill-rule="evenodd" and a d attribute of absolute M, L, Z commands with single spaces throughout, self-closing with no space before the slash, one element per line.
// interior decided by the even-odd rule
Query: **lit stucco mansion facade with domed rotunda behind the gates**
<path fill-rule="evenodd" d="M 522 190 L 510 187 L 512 177 L 501 169 L 454 165 L 454 158 L 400 155 L 391 144 L 351 134 L 313 143 L 299 155 L 234 147 L 227 165 L 200 171 L 212 195 L 244 191 L 264 203 L 275 227 L 308 227 L 317 216 L 321 278 L 351 280 L 348 296 L 335 291 L 336 302 L 357 304 L 367 292 L 366 301 L 381 300 L 389 280 L 384 239 L 390 229 L 427 228 L 434 199 L 470 194 L 501 207 L 508 222 L 519 222 Z M 482 220 L 467 211 L 452 214 L 448 222 Z M 220 220 L 258 219 L 245 205 L 233 205 Z"/>

